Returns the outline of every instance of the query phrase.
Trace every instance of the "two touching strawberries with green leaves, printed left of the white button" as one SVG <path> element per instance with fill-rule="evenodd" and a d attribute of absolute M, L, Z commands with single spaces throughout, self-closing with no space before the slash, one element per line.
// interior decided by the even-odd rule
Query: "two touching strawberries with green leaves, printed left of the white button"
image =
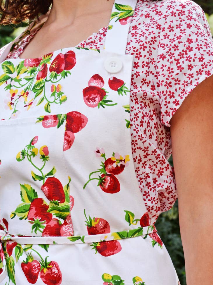
<path fill-rule="evenodd" d="M 105 106 L 115 106 L 117 103 L 113 103 L 112 100 L 107 100 L 107 91 L 103 89 L 104 80 L 99 74 L 93 75 L 89 82 L 88 87 L 83 89 L 83 100 L 88 107 L 103 107 Z"/>

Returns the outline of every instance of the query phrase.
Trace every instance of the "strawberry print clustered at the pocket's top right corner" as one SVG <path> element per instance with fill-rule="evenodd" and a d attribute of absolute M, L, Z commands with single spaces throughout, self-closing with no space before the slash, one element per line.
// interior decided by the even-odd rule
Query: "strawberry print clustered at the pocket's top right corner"
<path fill-rule="evenodd" d="M 60 128 L 64 121 L 66 121 L 66 123 L 63 150 L 66 151 L 69 150 L 74 143 L 74 133 L 81 131 L 88 123 L 88 118 L 85 115 L 77 111 L 71 111 L 67 114 L 46 115 L 37 118 L 36 123 L 42 122 L 42 126 L 44 128 L 52 128 L 56 126 L 57 128 Z"/>

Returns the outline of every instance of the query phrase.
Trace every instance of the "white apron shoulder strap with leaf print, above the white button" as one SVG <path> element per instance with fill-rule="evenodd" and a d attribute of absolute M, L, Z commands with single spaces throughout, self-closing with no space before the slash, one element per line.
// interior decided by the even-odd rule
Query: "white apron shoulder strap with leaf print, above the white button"
<path fill-rule="evenodd" d="M 109 52 L 125 54 L 130 22 L 137 0 L 116 0 L 116 2 L 112 8 L 104 49 Z"/>

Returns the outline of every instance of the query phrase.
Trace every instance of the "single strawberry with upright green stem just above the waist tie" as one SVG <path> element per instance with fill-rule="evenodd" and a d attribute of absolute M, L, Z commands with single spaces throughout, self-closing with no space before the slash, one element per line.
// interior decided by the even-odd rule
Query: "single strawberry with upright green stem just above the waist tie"
<path fill-rule="evenodd" d="M 110 233 L 110 226 L 109 223 L 102 219 L 102 218 L 93 218 L 91 219 L 89 215 L 89 219 L 86 216 L 85 210 L 84 210 L 84 215 L 86 217 L 86 226 L 87 226 L 87 231 L 88 235 L 96 235 L 96 234 L 107 234 Z"/>

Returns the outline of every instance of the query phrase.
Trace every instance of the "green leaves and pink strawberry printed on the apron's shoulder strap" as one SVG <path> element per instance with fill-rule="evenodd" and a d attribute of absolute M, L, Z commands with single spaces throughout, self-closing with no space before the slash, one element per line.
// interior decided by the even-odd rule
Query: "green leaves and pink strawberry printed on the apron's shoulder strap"
<path fill-rule="evenodd" d="M 113 12 L 110 20 L 117 18 L 115 21 L 117 22 L 119 20 L 121 25 L 126 25 L 127 23 L 131 22 L 132 15 L 134 14 L 134 10 L 131 6 L 115 3 L 115 9 L 118 12 Z"/>

